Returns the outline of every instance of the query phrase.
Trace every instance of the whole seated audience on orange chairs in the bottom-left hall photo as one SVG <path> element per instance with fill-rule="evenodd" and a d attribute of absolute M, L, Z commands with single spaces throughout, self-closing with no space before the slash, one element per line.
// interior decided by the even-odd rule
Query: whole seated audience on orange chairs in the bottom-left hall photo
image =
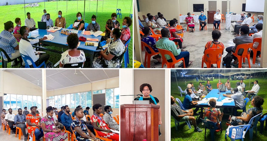
<path fill-rule="evenodd" d="M 41 117 L 37 113 L 37 107 L 32 106 L 30 108 L 31 113 L 27 111 L 27 107 L 18 109 L 18 114 L 12 113 L 12 108 L 2 110 L 2 123 L 11 129 L 12 133 L 16 132 L 16 127 L 21 128 L 21 131 L 24 135 L 24 140 L 28 139 L 28 134 L 30 138 L 33 138 L 33 133 L 36 141 L 40 141 L 40 138 L 45 136 L 46 140 L 51 141 L 63 141 L 68 138 L 68 135 L 63 132 L 64 127 L 70 133 L 75 133 L 77 140 L 84 141 L 100 141 L 99 138 L 96 138 L 96 132 L 98 136 L 103 138 L 109 138 L 114 141 L 119 141 L 119 135 L 113 133 L 110 129 L 119 131 L 119 125 L 111 116 L 112 108 L 107 105 L 105 107 L 105 114 L 102 117 L 102 105 L 95 104 L 93 106 L 93 111 L 95 113 L 91 116 L 90 119 L 86 119 L 85 115 L 89 115 L 90 107 L 86 107 L 86 110 L 83 111 L 81 106 L 76 107 L 74 110 L 75 118 L 73 120 L 72 115 L 69 113 L 68 105 L 61 107 L 61 111 L 57 111 L 57 108 L 49 106 L 46 108 L 46 115 Z M 57 116 L 58 115 L 58 118 Z M 28 133 L 26 134 L 26 129 Z M 8 130 L 8 129 L 7 129 Z"/>

